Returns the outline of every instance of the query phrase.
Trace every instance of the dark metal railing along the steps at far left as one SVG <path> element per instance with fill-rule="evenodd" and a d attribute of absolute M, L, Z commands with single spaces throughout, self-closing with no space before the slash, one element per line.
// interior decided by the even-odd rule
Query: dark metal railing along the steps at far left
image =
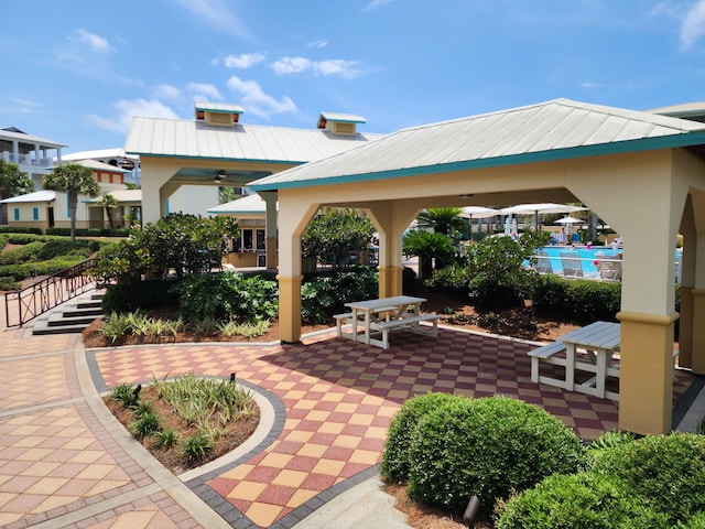
<path fill-rule="evenodd" d="M 6 325 L 8 327 L 22 326 L 46 311 L 89 290 L 96 280 L 89 273 L 94 264 L 95 259 L 88 259 L 22 290 L 6 292 Z"/>

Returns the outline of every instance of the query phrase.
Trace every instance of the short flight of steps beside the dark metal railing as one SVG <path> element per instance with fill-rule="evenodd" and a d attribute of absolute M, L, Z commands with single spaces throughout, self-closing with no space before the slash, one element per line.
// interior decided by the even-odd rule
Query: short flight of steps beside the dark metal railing
<path fill-rule="evenodd" d="M 85 292 L 36 319 L 32 334 L 80 333 L 102 315 L 102 290 Z"/>

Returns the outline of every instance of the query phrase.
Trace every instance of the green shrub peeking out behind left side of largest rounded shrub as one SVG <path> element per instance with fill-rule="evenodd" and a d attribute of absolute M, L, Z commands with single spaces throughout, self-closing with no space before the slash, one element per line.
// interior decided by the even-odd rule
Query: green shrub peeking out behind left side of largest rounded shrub
<path fill-rule="evenodd" d="M 380 465 L 382 477 L 399 482 L 409 479 L 409 446 L 416 424 L 427 413 L 455 399 L 456 397 L 449 393 L 430 392 L 409 399 L 402 404 L 387 432 L 387 443 Z"/>

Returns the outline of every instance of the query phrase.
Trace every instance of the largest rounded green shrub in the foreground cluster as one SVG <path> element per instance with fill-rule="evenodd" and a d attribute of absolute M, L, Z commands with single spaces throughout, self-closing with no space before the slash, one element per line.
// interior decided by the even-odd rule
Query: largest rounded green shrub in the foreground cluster
<path fill-rule="evenodd" d="M 587 464 L 579 438 L 541 408 L 505 397 L 456 398 L 412 435 L 408 494 L 460 514 L 471 496 L 481 518 L 495 501 Z"/>

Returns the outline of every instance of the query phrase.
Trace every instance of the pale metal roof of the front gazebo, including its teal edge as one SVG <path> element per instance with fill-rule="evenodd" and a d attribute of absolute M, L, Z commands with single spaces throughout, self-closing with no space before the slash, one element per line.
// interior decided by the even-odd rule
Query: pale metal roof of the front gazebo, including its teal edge
<path fill-rule="evenodd" d="M 705 144 L 705 125 L 570 99 L 403 129 L 251 182 L 256 191 L 364 182 Z"/>

